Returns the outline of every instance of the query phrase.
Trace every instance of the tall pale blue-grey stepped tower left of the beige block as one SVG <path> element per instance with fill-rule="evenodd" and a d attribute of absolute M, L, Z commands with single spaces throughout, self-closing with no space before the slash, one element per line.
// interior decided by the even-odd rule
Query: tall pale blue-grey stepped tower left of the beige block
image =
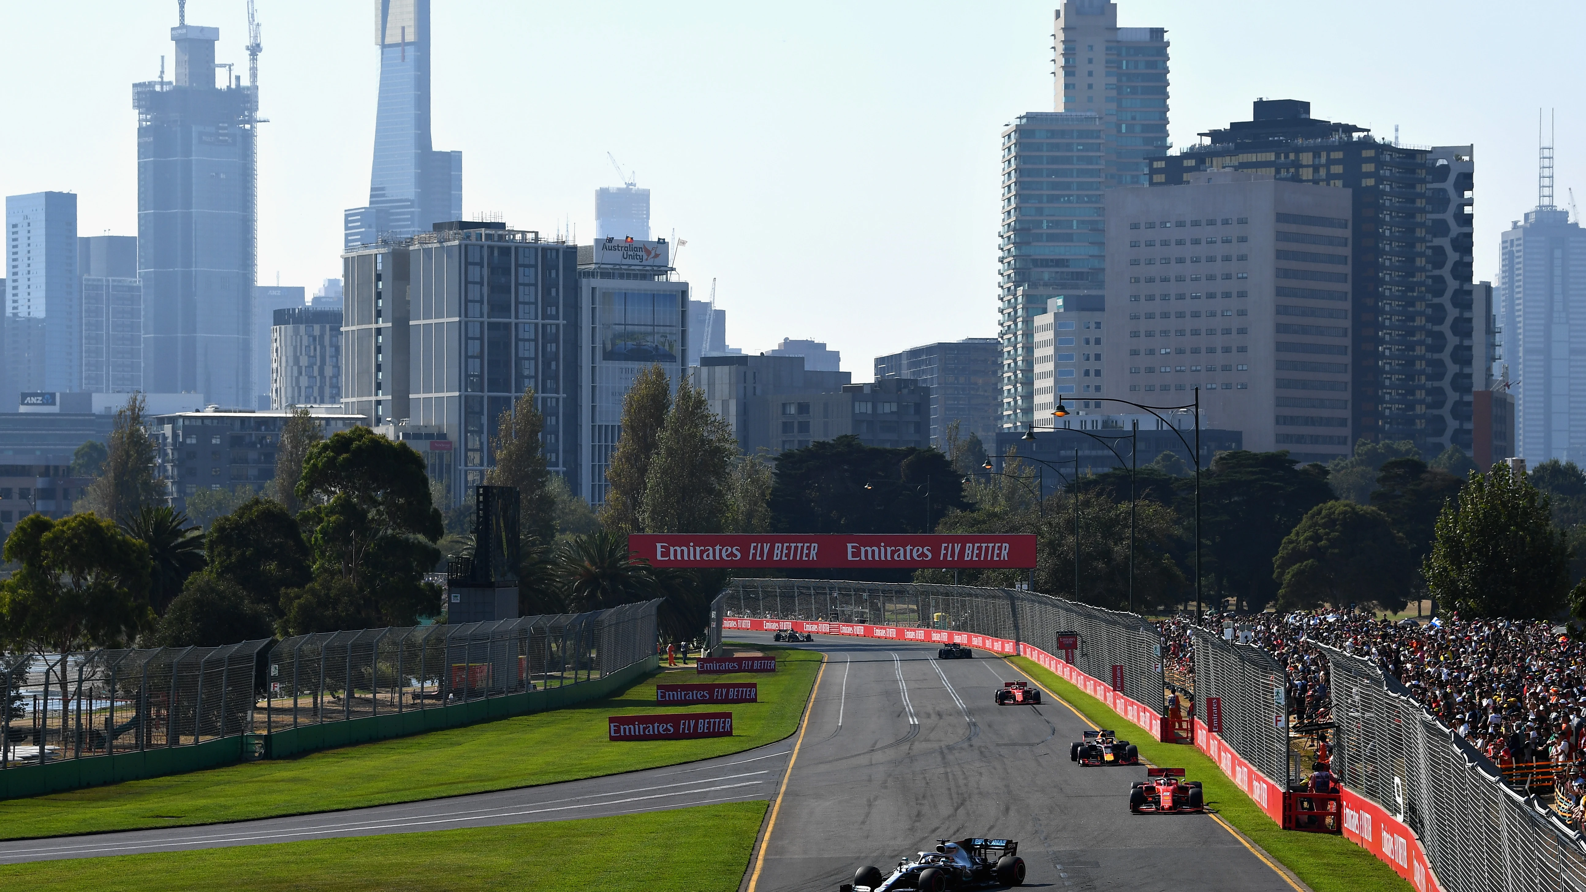
<path fill-rule="evenodd" d="M 1056 112 L 1002 132 L 998 339 L 1004 428 L 1034 421 L 1031 318 L 1061 296 L 1104 299 L 1101 192 L 1147 182 L 1167 151 L 1167 30 L 1120 29 L 1118 5 L 1066 0 L 1056 13 Z"/>

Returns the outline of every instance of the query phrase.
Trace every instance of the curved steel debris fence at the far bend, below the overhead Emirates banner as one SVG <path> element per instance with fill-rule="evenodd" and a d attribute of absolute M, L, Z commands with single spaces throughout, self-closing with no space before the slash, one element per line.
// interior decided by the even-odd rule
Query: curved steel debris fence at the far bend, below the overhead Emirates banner
<path fill-rule="evenodd" d="M 715 619 L 725 616 L 950 629 L 1029 643 L 1058 658 L 1064 656 L 1058 635 L 1075 632 L 1075 667 L 1104 681 L 1120 667 L 1121 692 L 1166 715 L 1163 639 L 1136 613 L 1012 588 L 749 578 L 728 580 L 712 612 L 712 645 L 720 643 Z"/>

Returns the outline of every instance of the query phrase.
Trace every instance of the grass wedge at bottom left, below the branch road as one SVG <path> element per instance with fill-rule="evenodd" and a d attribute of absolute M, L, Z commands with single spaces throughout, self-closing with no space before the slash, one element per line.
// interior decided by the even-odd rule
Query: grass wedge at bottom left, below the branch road
<path fill-rule="evenodd" d="M 0 867 L 0 887 L 734 892 L 764 813 L 764 802 L 734 802 L 509 827 L 51 860 Z"/>

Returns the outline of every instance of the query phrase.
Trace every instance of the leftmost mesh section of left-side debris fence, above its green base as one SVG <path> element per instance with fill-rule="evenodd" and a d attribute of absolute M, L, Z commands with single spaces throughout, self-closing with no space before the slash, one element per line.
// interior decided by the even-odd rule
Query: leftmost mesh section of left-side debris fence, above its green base
<path fill-rule="evenodd" d="M 257 658 L 270 643 L 10 654 L 0 770 L 246 734 Z"/>

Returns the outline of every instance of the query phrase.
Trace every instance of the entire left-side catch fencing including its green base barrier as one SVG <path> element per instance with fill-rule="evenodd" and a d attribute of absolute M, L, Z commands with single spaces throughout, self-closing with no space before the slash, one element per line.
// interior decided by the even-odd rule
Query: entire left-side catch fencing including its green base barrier
<path fill-rule="evenodd" d="M 658 605 L 224 648 L 0 654 L 0 799 L 606 696 L 655 667 Z"/>

